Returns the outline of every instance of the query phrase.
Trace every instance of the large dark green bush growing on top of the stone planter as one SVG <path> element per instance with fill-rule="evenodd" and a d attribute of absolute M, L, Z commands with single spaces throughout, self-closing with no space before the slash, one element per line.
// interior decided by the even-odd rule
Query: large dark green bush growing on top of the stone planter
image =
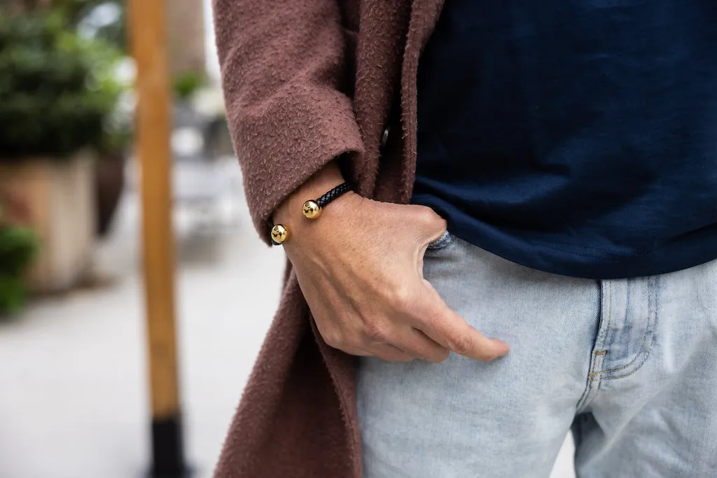
<path fill-rule="evenodd" d="M 120 95 L 110 47 L 80 38 L 60 14 L 0 9 L 0 158 L 70 156 L 103 143 Z"/>

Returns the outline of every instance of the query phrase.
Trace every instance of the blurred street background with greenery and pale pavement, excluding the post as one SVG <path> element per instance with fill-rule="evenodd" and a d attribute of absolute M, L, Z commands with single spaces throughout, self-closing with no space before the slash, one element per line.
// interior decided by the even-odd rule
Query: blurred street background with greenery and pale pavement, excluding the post
<path fill-rule="evenodd" d="M 244 204 L 209 0 L 165 1 L 182 461 L 209 477 L 284 257 Z M 0 478 L 153 461 L 127 32 L 121 0 L 0 0 Z"/>

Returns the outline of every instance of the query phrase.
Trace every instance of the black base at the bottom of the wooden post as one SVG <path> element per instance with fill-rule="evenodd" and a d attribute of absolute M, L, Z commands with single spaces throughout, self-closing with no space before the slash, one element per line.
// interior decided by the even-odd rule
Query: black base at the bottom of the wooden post
<path fill-rule="evenodd" d="M 151 478 L 188 478 L 189 467 L 184 461 L 184 440 L 181 416 L 152 420 Z"/>

